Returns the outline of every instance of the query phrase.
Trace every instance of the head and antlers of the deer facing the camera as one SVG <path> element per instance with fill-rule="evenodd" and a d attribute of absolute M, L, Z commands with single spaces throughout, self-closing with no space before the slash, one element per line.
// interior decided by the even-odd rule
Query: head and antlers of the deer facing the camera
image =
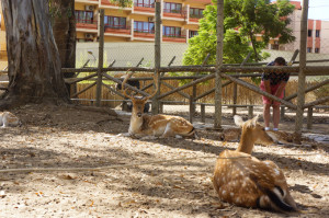
<path fill-rule="evenodd" d="M 144 113 L 144 107 L 145 107 L 145 104 L 146 102 L 154 97 L 158 91 L 158 87 L 157 87 L 157 81 L 155 80 L 155 84 L 156 84 L 156 91 L 149 95 L 149 96 L 134 96 L 134 95 L 129 95 L 127 94 L 127 90 L 128 89 L 125 89 L 125 85 L 126 85 L 126 82 L 127 80 L 132 77 L 134 72 L 129 72 L 127 74 L 127 77 L 124 79 L 123 83 L 122 83 L 122 90 L 123 90 L 123 93 L 126 97 L 128 97 L 129 100 L 132 100 L 132 103 L 133 103 L 133 116 L 134 117 L 141 117 L 143 113 Z"/>

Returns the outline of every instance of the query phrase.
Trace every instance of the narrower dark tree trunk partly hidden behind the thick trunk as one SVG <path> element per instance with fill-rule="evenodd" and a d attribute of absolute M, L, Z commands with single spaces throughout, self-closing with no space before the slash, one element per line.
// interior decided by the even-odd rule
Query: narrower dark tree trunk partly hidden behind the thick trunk
<path fill-rule="evenodd" d="M 58 47 L 61 68 L 76 68 L 76 16 L 75 0 L 52 0 L 53 31 Z M 64 78 L 72 78 L 75 72 L 64 73 Z M 68 92 L 76 92 L 76 85 L 66 84 Z"/>

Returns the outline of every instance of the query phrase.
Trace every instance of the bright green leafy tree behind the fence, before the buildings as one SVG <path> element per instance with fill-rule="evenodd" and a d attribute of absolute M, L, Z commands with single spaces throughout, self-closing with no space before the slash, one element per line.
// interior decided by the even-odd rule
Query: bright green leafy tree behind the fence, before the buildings
<path fill-rule="evenodd" d="M 287 18 L 294 11 L 288 0 L 225 0 L 224 2 L 224 62 L 241 62 L 250 50 L 251 61 L 268 57 L 262 53 L 270 38 L 277 37 L 281 44 L 295 39 L 287 27 Z M 207 5 L 200 21 L 198 35 L 189 41 L 184 65 L 201 65 L 207 54 L 208 64 L 215 64 L 217 2 Z M 256 35 L 262 35 L 258 39 Z"/>

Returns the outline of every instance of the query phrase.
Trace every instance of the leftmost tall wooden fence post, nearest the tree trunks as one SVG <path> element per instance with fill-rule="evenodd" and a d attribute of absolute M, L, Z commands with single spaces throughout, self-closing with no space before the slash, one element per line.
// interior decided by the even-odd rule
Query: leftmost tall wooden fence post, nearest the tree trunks
<path fill-rule="evenodd" d="M 99 69 L 97 83 L 97 106 L 101 106 L 102 77 L 103 77 L 103 54 L 104 54 L 104 9 L 100 10 L 100 42 L 99 42 Z"/>

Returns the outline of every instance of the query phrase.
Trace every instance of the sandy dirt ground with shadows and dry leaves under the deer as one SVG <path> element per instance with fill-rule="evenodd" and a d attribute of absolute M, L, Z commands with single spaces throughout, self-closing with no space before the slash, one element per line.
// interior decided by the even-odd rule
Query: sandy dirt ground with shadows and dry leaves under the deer
<path fill-rule="evenodd" d="M 213 168 L 237 142 L 219 141 L 197 119 L 200 139 L 139 140 L 117 136 L 128 129 L 126 114 L 39 105 L 12 112 L 23 125 L 0 129 L 0 217 L 329 217 L 328 141 L 254 147 L 254 157 L 283 169 L 303 210 L 283 215 L 219 202 Z M 315 123 L 314 131 L 328 137 L 328 113 Z M 294 118 L 282 128 L 293 130 Z M 48 170 L 3 172 L 31 168 Z"/>

